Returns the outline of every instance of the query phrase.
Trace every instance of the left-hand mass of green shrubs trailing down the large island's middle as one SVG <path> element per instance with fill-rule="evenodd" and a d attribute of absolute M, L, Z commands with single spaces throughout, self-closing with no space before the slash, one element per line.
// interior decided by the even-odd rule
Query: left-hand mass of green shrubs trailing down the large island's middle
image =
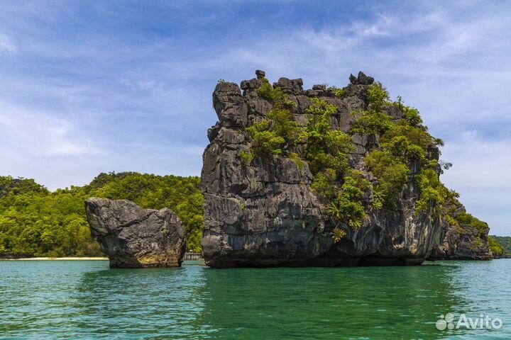
<path fill-rule="evenodd" d="M 344 90 L 335 91 L 336 96 L 344 96 Z M 362 199 L 364 193 L 372 190 L 372 185 L 360 171 L 349 170 L 348 154 L 355 147 L 351 136 L 332 128 L 331 115 L 337 108 L 312 98 L 306 110 L 308 123 L 300 126 L 292 115 L 294 103 L 280 88 L 273 89 L 264 80 L 258 94 L 272 103 L 273 108 L 266 119 L 246 128 L 251 137 L 251 150 L 241 152 L 243 164 L 268 154 L 287 157 L 300 169 L 307 164 L 314 175 L 312 188 L 324 198 L 326 212 L 336 224 L 333 237 L 339 242 L 346 234 L 339 228 L 341 223 L 358 229 L 367 218 Z"/>

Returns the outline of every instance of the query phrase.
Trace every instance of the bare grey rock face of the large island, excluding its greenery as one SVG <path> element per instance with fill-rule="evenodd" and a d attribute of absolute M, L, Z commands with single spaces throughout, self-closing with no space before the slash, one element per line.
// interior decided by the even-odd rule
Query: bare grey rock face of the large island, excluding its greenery
<path fill-rule="evenodd" d="M 208 130 L 211 143 L 202 169 L 202 246 L 209 266 L 414 265 L 440 248 L 446 237 L 442 218 L 415 212 L 419 187 L 412 177 L 419 171 L 417 164 L 410 164 L 410 180 L 397 207 L 368 212 L 368 220 L 356 230 L 346 229 L 340 242 L 334 242 L 334 222 L 311 188 L 314 176 L 307 164 L 300 166 L 286 157 L 255 157 L 251 164 L 243 164 L 240 154 L 249 149 L 245 129 L 272 108 L 257 93 L 264 72 L 256 74 L 256 79 L 242 81 L 241 89 L 221 82 L 213 94 L 219 123 Z M 324 85 L 304 90 L 302 79 L 280 78 L 273 88 L 280 87 L 295 103 L 292 115 L 298 123 L 307 124 L 305 110 L 312 98 L 320 98 L 337 108 L 332 126 L 348 132 L 355 119 L 353 111 L 368 108 L 368 88 L 374 79 L 360 72 L 350 81 L 342 98 Z M 403 118 L 395 106 L 385 111 L 393 120 Z M 378 136 L 355 134 L 352 141 L 356 149 L 349 154 L 351 168 L 373 181 L 364 159 L 378 145 Z M 428 153 L 429 159 L 439 157 L 436 147 Z M 364 200 L 370 202 L 373 197 Z M 456 249 L 461 251 L 459 244 Z"/>

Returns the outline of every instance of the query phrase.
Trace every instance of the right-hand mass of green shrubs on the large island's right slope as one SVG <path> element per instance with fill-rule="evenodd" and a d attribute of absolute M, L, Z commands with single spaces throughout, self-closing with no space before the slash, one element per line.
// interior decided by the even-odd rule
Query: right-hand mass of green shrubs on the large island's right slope
<path fill-rule="evenodd" d="M 443 142 L 429 135 L 416 108 L 405 106 L 401 97 L 390 102 L 381 84 L 371 85 L 368 97 L 368 111 L 356 113 L 358 119 L 351 133 L 379 138 L 380 147 L 370 152 L 366 164 L 378 178 L 375 191 L 380 193 L 384 207 L 395 208 L 403 186 L 414 176 L 420 188 L 417 212 L 440 213 L 441 206 L 454 193 L 440 182 L 439 164 L 429 154 Z M 393 120 L 385 113 L 385 108 L 391 106 L 399 108 L 403 119 Z"/>

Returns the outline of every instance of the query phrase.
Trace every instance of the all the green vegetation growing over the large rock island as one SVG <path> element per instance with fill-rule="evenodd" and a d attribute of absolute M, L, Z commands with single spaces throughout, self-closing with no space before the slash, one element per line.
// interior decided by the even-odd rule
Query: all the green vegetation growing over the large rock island
<path fill-rule="evenodd" d="M 307 124 L 299 125 L 295 102 L 279 86 L 273 88 L 267 79 L 262 81 L 257 94 L 270 102 L 272 109 L 265 119 L 246 128 L 249 143 L 248 150 L 241 152 L 243 165 L 248 166 L 255 157 L 273 155 L 291 159 L 300 169 L 308 166 L 314 176 L 312 189 L 324 200 L 326 213 L 336 226 L 336 242 L 346 235 L 347 229 L 342 228 L 358 229 L 369 212 L 398 208 L 407 183 L 415 183 L 418 189 L 416 214 L 444 214 L 450 224 L 456 222 L 461 230 L 463 225 L 476 227 L 480 235 L 488 230 L 488 225 L 475 217 L 468 220 L 449 210 L 458 194 L 439 179 L 438 147 L 443 141 L 429 134 L 416 108 L 405 106 L 400 96 L 390 101 L 382 84 L 368 86 L 368 105 L 352 113 L 354 120 L 346 133 L 332 126 L 336 106 L 314 97 L 309 98 L 305 110 Z M 349 87 L 326 85 L 324 89 L 337 98 L 350 91 Z M 356 149 L 352 137 L 367 140 L 366 171 L 350 168 Z M 367 171 L 375 176 L 371 181 Z"/>

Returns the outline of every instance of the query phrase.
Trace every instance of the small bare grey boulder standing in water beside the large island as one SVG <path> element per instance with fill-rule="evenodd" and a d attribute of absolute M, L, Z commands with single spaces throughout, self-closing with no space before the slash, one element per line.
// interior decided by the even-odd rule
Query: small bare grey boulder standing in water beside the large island
<path fill-rule="evenodd" d="M 185 255 L 185 228 L 172 210 L 143 209 L 129 200 L 85 202 L 94 239 L 111 268 L 178 267 Z"/>

